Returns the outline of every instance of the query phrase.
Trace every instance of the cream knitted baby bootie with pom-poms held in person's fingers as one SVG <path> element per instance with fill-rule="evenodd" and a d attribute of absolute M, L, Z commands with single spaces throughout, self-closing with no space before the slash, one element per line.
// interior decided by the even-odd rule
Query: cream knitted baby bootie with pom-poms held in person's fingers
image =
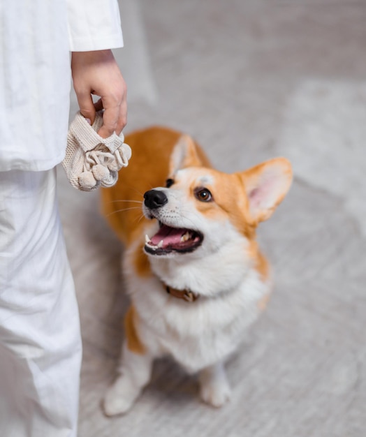
<path fill-rule="evenodd" d="M 101 138 L 97 131 L 103 124 L 103 112 L 96 112 L 92 126 L 78 112 L 67 135 L 66 156 L 62 165 L 69 182 L 82 191 L 99 186 L 113 186 L 118 171 L 129 164 L 131 147 L 124 143 L 124 135 L 113 133 Z"/>

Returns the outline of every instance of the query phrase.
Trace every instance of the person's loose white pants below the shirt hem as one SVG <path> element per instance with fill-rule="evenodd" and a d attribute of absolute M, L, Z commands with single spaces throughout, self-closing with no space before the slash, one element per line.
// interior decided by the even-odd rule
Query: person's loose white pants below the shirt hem
<path fill-rule="evenodd" d="M 80 362 L 56 170 L 0 172 L 0 436 L 75 437 Z"/>

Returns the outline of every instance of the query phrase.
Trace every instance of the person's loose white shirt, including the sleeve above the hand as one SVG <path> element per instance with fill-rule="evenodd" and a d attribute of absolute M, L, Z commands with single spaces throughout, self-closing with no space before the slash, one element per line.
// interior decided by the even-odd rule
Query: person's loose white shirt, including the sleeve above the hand
<path fill-rule="evenodd" d="M 122 46 L 117 0 L 0 0 L 0 171 L 62 161 L 70 52 Z"/>

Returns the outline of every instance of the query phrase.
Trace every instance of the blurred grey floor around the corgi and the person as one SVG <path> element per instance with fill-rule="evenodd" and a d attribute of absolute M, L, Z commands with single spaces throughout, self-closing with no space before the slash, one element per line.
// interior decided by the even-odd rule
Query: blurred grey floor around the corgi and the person
<path fill-rule="evenodd" d="M 59 171 L 80 304 L 80 437 L 366 436 L 366 3 L 122 0 L 129 125 L 193 135 L 220 170 L 288 157 L 291 192 L 259 238 L 272 261 L 268 311 L 228 363 L 233 398 L 200 403 L 170 361 L 131 413 L 107 418 L 127 300 L 122 248 Z M 75 112 L 75 97 L 71 112 Z"/>

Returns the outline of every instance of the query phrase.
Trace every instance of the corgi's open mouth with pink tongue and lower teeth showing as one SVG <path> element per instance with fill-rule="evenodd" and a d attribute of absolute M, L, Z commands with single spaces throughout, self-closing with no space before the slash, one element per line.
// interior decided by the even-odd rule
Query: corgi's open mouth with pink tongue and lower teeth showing
<path fill-rule="evenodd" d="M 160 229 L 153 237 L 145 237 L 145 251 L 152 255 L 166 255 L 173 251 L 179 253 L 193 252 L 203 242 L 203 235 L 196 230 L 171 228 L 160 224 Z"/>

